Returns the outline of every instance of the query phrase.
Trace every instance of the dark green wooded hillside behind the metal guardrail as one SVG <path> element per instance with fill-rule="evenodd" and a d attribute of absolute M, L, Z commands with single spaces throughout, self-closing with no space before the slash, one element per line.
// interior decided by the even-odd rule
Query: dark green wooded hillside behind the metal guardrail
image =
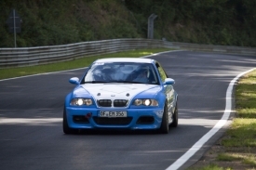
<path fill-rule="evenodd" d="M 7 19 L 22 20 L 17 46 L 55 46 L 118 38 L 147 38 L 223 46 L 256 46 L 255 0 L 1 0 L 0 47 L 14 47 Z"/>

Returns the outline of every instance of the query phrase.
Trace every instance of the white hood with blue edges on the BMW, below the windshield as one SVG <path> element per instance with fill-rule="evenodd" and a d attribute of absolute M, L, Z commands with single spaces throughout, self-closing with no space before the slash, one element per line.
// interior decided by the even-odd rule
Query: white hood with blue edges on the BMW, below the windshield
<path fill-rule="evenodd" d="M 85 84 L 74 89 L 74 98 L 87 98 L 88 95 L 94 99 L 128 99 L 137 95 L 146 98 L 155 98 L 161 90 L 160 85 L 145 84 Z"/>

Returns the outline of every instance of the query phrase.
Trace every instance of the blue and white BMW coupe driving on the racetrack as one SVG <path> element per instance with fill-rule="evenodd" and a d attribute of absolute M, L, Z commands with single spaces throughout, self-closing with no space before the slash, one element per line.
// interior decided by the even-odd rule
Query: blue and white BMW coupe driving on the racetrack
<path fill-rule="evenodd" d="M 65 98 L 63 132 L 155 129 L 178 125 L 178 94 L 155 59 L 97 59 Z"/>

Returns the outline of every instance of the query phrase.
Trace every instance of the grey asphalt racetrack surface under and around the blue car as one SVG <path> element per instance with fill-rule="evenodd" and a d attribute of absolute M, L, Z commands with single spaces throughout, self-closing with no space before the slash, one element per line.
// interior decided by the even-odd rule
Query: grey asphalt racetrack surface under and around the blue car
<path fill-rule="evenodd" d="M 64 135 L 64 98 L 74 88 L 69 79 L 81 77 L 85 69 L 4 80 L 0 81 L 0 169 L 165 170 L 222 119 L 230 82 L 256 67 L 256 57 L 241 55 L 175 51 L 150 58 L 175 80 L 179 94 L 179 125 L 168 135 L 150 131 Z M 226 127 L 177 168 L 195 163 Z"/>

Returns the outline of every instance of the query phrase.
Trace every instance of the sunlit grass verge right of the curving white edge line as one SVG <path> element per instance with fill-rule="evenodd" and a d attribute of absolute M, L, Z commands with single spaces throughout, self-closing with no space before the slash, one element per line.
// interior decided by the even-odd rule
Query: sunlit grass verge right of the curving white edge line
<path fill-rule="evenodd" d="M 240 78 L 236 116 L 224 136 L 190 170 L 256 169 L 256 70 Z"/>

